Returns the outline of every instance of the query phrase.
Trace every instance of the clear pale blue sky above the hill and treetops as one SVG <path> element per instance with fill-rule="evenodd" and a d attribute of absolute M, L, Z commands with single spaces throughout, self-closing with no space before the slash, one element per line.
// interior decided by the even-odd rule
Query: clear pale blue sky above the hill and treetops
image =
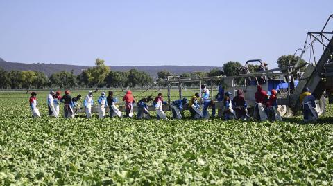
<path fill-rule="evenodd" d="M 318 3 L 320 2 L 320 3 Z M 302 47 L 333 1 L 0 0 L 0 57 L 8 62 L 222 66 Z"/>

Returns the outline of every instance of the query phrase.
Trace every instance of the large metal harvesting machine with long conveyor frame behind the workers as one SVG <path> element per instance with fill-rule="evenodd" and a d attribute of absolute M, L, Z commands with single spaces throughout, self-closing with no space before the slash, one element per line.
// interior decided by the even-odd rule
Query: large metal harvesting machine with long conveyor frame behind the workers
<path fill-rule="evenodd" d="M 255 106 L 257 85 L 260 84 L 268 94 L 271 89 L 278 91 L 278 111 L 280 111 L 282 116 L 288 117 L 292 115 L 293 111 L 295 112 L 300 109 L 300 94 L 305 87 L 308 87 L 309 91 L 316 97 L 316 111 L 318 115 L 321 115 L 325 113 L 325 95 L 329 97 L 330 103 L 333 102 L 333 31 L 327 31 L 332 19 L 333 15 L 330 15 L 321 31 L 307 33 L 304 47 L 296 50 L 294 53 L 295 56 L 300 51 L 300 57 L 298 57 L 298 61 L 294 66 L 289 65 L 282 68 L 250 73 L 248 70 L 250 62 L 256 62 L 259 66 L 263 66 L 263 64 L 260 59 L 249 60 L 245 66 L 239 69 L 239 75 L 237 76 L 204 78 L 169 77 L 167 80 L 169 82 L 169 91 L 172 84 L 178 84 L 179 96 L 181 98 L 182 85 L 187 82 L 199 82 L 201 87 L 203 82 L 208 82 L 208 84 L 212 85 L 213 80 L 221 80 L 225 91 L 230 91 L 233 95 L 236 95 L 237 89 L 242 89 L 249 108 L 253 108 Z M 321 57 L 316 60 L 318 46 L 323 52 L 321 53 Z M 307 52 L 312 61 L 300 64 L 300 60 Z M 289 64 L 291 63 L 289 62 Z M 305 71 L 301 71 L 304 68 Z M 212 99 L 214 99 L 213 91 L 213 87 L 211 86 Z M 221 102 L 215 102 L 215 104 L 218 108 L 223 106 Z"/>

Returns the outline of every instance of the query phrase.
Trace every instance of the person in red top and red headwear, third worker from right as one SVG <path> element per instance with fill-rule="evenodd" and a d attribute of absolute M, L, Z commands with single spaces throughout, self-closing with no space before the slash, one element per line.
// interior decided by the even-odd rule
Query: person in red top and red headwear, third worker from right
<path fill-rule="evenodd" d="M 257 92 L 255 93 L 255 111 L 253 112 L 253 118 L 264 121 L 267 120 L 266 104 L 267 93 L 262 90 L 262 86 L 257 86 Z"/>

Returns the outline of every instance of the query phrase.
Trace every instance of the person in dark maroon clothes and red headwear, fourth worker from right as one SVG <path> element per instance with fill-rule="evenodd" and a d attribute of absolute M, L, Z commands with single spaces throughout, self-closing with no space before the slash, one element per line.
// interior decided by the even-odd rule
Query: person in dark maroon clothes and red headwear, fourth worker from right
<path fill-rule="evenodd" d="M 237 118 L 246 120 L 248 118 L 248 111 L 244 93 L 241 89 L 237 90 L 237 95 L 232 99 L 232 106 L 236 112 Z"/>

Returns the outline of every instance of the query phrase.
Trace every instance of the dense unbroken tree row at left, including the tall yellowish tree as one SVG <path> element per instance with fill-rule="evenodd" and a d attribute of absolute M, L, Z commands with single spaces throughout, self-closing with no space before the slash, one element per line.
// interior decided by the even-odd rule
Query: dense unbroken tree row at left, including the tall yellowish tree
<path fill-rule="evenodd" d="M 75 75 L 73 71 L 60 71 L 50 77 L 38 71 L 4 71 L 0 68 L 0 89 L 43 89 L 58 87 L 125 87 L 148 86 L 153 78 L 148 73 L 131 69 L 130 71 L 110 71 L 104 60 L 96 59 L 96 66 Z"/>

